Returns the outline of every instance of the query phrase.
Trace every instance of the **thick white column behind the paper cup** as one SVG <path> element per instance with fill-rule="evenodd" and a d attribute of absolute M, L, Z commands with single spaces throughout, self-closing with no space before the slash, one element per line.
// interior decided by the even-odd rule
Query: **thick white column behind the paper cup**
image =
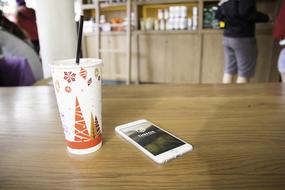
<path fill-rule="evenodd" d="M 49 63 L 75 58 L 76 23 L 73 0 L 35 0 L 44 77 L 50 77 Z"/>

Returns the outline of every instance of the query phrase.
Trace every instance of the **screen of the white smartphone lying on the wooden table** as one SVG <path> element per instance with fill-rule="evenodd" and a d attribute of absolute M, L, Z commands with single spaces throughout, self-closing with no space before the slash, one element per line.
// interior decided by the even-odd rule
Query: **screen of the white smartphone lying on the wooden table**
<path fill-rule="evenodd" d="M 121 131 L 154 156 L 185 144 L 181 140 L 147 122 L 123 128 Z"/>

